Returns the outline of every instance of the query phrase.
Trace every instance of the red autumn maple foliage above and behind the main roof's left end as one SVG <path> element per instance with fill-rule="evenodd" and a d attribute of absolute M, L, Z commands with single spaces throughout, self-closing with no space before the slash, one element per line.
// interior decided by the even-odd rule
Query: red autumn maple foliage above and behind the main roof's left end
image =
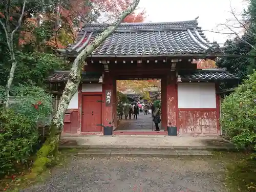
<path fill-rule="evenodd" d="M 78 31 L 84 23 L 98 22 L 111 23 L 125 10 L 134 0 L 92 0 L 90 5 L 87 1 L 76 0 L 56 5 L 54 13 L 38 13 L 36 18 L 29 18 L 26 22 L 39 27 L 40 21 L 51 20 L 55 23 L 52 38 L 46 42 L 53 48 L 65 48 L 70 41 L 76 39 Z M 39 16 L 40 15 L 40 16 Z M 135 10 L 127 16 L 123 23 L 140 23 L 145 19 L 145 10 Z M 61 25 L 60 25 L 61 24 Z M 21 33 L 20 44 L 26 44 L 32 37 L 33 28 Z M 60 38 L 65 34 L 69 40 Z M 85 39 L 86 40 L 86 39 Z M 68 42 L 68 43 L 67 43 Z"/>

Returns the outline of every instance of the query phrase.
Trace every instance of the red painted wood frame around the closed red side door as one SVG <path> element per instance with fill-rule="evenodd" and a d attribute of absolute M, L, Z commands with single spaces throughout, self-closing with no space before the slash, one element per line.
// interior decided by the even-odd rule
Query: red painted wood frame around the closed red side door
<path fill-rule="evenodd" d="M 101 95 L 103 100 L 103 92 L 82 92 L 81 86 L 78 88 L 78 127 L 79 127 L 79 135 L 86 135 L 85 133 L 81 133 L 81 125 L 82 125 L 82 95 Z M 103 102 L 101 103 L 101 122 L 103 123 L 104 120 L 104 105 Z M 103 132 L 103 126 L 101 127 L 101 132 Z"/>

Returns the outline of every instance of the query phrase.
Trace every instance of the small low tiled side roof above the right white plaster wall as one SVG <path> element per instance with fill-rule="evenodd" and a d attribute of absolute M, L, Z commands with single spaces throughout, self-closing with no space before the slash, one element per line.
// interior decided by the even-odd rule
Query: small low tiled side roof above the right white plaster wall
<path fill-rule="evenodd" d="M 179 72 L 178 81 L 225 81 L 238 79 L 226 69 L 203 69 L 193 72 Z"/>

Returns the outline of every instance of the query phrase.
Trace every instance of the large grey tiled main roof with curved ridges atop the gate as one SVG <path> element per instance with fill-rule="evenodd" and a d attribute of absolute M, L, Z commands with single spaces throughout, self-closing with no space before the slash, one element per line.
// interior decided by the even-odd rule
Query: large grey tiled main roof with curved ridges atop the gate
<path fill-rule="evenodd" d="M 63 55 L 76 55 L 106 26 L 90 24 L 78 33 L 76 44 Z M 168 23 L 121 24 L 115 32 L 94 50 L 92 56 L 152 56 L 175 54 L 205 54 L 218 50 L 218 44 L 210 44 L 197 20 Z M 75 48 L 75 49 L 74 49 Z"/>

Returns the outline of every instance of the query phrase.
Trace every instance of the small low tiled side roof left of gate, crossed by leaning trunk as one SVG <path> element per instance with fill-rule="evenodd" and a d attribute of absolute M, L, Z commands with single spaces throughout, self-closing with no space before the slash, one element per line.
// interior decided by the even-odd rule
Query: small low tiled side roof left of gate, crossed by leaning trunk
<path fill-rule="evenodd" d="M 49 76 L 47 82 L 66 82 L 68 80 L 69 71 L 55 71 L 51 76 Z M 83 82 L 98 82 L 101 77 L 101 73 L 90 73 L 81 72 L 81 81 Z"/>

